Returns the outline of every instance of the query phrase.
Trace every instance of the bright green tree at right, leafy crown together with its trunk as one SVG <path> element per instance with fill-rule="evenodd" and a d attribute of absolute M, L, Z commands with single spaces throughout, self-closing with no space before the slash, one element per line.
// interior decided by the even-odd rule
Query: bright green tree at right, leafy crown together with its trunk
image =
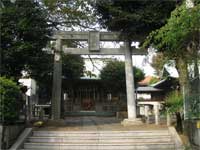
<path fill-rule="evenodd" d="M 167 24 L 149 34 L 144 46 L 152 45 L 164 56 L 175 60 L 179 72 L 181 87 L 188 94 L 189 75 L 188 64 L 194 64 L 196 76 L 199 78 L 199 38 L 200 38 L 200 3 L 194 8 L 187 9 L 185 4 L 177 7 L 171 14 Z"/>

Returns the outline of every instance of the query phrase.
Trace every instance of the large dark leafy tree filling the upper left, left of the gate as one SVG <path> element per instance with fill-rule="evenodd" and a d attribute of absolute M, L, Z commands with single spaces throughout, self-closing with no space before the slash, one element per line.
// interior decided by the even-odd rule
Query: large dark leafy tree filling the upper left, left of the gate
<path fill-rule="evenodd" d="M 16 0 L 14 4 L 3 0 L 2 4 L 1 74 L 17 79 L 26 70 L 30 76 L 44 77 L 49 56 L 42 48 L 51 34 L 46 10 L 33 0 Z"/>

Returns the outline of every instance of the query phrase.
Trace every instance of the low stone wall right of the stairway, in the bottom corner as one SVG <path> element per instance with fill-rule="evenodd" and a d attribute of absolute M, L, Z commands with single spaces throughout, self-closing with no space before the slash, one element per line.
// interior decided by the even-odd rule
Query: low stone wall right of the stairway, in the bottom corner
<path fill-rule="evenodd" d="M 186 120 L 184 128 L 189 137 L 190 143 L 197 149 L 200 149 L 200 120 Z"/>

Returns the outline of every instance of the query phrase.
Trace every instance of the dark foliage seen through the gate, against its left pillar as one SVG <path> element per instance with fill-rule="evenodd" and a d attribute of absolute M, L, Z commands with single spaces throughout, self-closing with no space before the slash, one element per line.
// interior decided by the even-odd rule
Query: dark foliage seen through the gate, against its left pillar
<path fill-rule="evenodd" d="M 84 61 L 79 55 L 63 55 L 62 71 L 63 75 L 69 79 L 78 79 L 84 72 Z"/>

